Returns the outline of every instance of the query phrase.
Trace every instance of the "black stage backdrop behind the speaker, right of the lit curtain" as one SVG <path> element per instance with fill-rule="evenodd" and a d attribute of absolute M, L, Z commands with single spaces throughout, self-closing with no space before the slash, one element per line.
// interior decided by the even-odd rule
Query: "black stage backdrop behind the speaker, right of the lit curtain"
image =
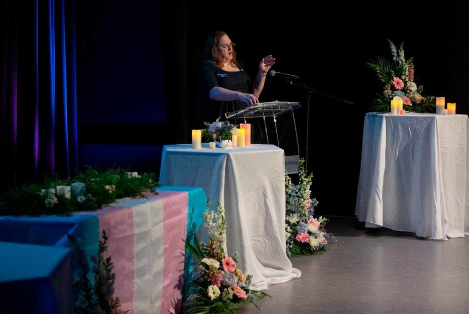
<path fill-rule="evenodd" d="M 353 215 L 363 119 L 380 92 L 365 63 L 377 54 L 391 58 L 387 39 L 404 42 L 424 93 L 445 96 L 467 114 L 468 17 L 468 4 L 459 1 L 77 1 L 80 164 L 158 172 L 162 145 L 189 143 L 190 130 L 202 126 L 202 46 L 210 32 L 223 30 L 248 73 L 272 54 L 274 70 L 355 104 L 313 94 L 309 143 L 317 213 Z M 296 117 L 304 147 L 304 92 L 268 78 L 260 101 L 273 100 L 303 105 Z M 279 123 L 291 126 L 288 117 Z M 288 132 L 282 137 L 287 154 L 293 141 Z"/>

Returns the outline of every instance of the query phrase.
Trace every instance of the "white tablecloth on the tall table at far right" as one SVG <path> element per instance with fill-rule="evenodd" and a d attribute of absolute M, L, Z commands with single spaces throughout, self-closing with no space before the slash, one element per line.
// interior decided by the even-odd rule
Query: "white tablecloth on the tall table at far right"
<path fill-rule="evenodd" d="M 469 234 L 468 116 L 367 113 L 355 214 L 430 239 Z"/>

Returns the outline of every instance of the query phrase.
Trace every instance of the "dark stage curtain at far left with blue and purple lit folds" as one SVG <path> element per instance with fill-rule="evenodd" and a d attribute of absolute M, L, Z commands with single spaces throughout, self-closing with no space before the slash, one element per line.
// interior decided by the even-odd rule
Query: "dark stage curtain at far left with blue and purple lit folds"
<path fill-rule="evenodd" d="M 0 190 L 78 166 L 74 0 L 0 1 Z"/>

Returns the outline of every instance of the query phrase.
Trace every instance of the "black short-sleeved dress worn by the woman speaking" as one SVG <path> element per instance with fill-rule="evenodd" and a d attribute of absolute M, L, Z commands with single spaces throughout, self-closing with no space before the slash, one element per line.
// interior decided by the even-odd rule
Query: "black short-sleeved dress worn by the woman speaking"
<path fill-rule="evenodd" d="M 240 71 L 228 72 L 210 61 L 204 61 L 200 65 L 198 79 L 201 96 L 200 117 L 203 122 L 213 122 L 218 117 L 221 117 L 221 121 L 226 120 L 226 112 L 233 112 L 246 107 L 246 104 L 239 100 L 216 101 L 209 96 L 213 87 L 251 93 L 251 79 L 241 66 Z"/>

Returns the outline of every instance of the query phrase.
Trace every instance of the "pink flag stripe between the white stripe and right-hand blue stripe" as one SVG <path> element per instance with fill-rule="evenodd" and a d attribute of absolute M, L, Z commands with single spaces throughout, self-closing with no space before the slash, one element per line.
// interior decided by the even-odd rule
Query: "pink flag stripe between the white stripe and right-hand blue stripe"
<path fill-rule="evenodd" d="M 161 314 L 179 313 L 182 301 L 188 192 L 158 191 L 163 200 L 163 290 Z M 175 283 L 177 285 L 175 286 Z"/>

